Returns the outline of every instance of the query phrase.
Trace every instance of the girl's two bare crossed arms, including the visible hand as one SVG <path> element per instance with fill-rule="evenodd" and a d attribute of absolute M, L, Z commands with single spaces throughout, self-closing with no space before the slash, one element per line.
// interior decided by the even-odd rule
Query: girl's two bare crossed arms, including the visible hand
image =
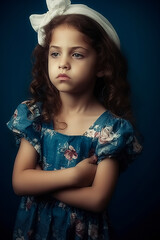
<path fill-rule="evenodd" d="M 38 154 L 22 139 L 13 170 L 13 188 L 18 195 L 52 193 L 53 197 L 78 208 L 102 211 L 110 200 L 118 179 L 118 163 L 105 159 L 98 166 L 94 158 L 76 167 L 42 171 L 36 169 Z"/>

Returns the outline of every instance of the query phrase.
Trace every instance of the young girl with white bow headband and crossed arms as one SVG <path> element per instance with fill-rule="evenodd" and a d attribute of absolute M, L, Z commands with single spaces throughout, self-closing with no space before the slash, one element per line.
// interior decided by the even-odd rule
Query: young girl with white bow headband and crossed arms
<path fill-rule="evenodd" d="M 39 43 L 32 99 L 8 122 L 20 143 L 13 188 L 23 195 L 14 239 L 107 240 L 106 207 L 141 151 L 126 63 L 102 15 L 67 0 L 47 5 L 30 17 Z"/>

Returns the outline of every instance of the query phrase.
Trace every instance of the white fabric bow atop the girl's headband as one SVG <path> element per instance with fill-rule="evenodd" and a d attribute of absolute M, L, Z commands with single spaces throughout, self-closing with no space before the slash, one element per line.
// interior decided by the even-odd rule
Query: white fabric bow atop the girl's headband
<path fill-rule="evenodd" d="M 62 15 L 70 6 L 70 0 L 46 0 L 48 12 L 45 14 L 32 14 L 29 19 L 33 29 L 38 32 L 38 43 L 44 44 L 44 26 L 47 25 L 55 16 Z"/>

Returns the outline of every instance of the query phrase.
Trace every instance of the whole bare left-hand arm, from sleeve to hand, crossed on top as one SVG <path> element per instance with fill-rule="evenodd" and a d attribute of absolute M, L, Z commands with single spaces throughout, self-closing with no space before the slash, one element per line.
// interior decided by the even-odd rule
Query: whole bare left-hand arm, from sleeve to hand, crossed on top
<path fill-rule="evenodd" d="M 18 195 L 46 194 L 56 190 L 91 185 L 96 166 L 94 158 L 81 161 L 75 167 L 43 171 L 36 166 L 38 154 L 24 138 L 15 159 L 13 188 Z"/>

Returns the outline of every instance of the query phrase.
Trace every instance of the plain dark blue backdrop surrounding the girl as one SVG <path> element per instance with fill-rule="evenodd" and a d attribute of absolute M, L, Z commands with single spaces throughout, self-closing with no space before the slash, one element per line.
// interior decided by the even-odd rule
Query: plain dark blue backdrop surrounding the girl
<path fill-rule="evenodd" d="M 128 59 L 133 109 L 144 136 L 143 154 L 120 176 L 109 206 L 114 239 L 160 239 L 160 7 L 156 0 L 95 0 L 84 3 L 113 24 Z M 20 198 L 11 177 L 17 148 L 5 123 L 28 96 L 31 53 L 37 36 L 28 17 L 47 10 L 44 0 L 1 3 L 0 37 L 0 238 L 11 239 Z M 2 237 L 3 236 L 3 237 Z"/>

